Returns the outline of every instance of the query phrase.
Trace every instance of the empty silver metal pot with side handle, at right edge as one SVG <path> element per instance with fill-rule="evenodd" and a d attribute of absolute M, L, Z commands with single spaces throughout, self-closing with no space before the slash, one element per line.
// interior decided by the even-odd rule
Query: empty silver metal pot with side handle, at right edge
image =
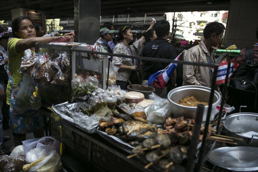
<path fill-rule="evenodd" d="M 224 118 L 223 128 L 226 136 L 240 138 L 234 140 L 237 146 L 258 147 L 258 114 L 257 113 L 235 113 Z M 241 133 L 236 134 L 235 132 Z M 235 146 L 235 145 L 232 145 Z"/>

